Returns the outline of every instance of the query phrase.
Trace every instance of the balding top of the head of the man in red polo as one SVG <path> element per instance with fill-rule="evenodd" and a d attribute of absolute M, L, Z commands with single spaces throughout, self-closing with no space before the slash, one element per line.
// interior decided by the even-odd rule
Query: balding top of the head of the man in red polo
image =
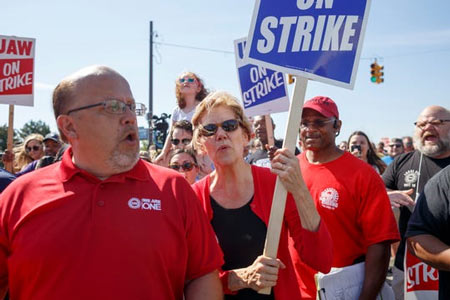
<path fill-rule="evenodd" d="M 83 90 L 94 88 L 99 81 L 114 77 L 121 79 L 120 81 L 128 85 L 128 82 L 122 75 L 106 66 L 89 66 L 64 78 L 53 91 L 55 119 L 59 115 L 65 114 L 68 108 L 76 103 L 76 97 Z"/>

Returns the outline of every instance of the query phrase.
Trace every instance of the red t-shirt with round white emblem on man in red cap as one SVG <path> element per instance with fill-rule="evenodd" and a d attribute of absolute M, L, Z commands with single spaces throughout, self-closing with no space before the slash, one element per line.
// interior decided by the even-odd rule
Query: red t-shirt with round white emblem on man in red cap
<path fill-rule="evenodd" d="M 352 265 L 367 247 L 400 236 L 380 175 L 364 161 L 345 152 L 324 164 L 297 156 L 303 178 L 333 240 L 333 267 Z M 314 271 L 300 268 L 309 294 L 315 294 Z M 310 274 L 309 277 L 305 274 Z"/>

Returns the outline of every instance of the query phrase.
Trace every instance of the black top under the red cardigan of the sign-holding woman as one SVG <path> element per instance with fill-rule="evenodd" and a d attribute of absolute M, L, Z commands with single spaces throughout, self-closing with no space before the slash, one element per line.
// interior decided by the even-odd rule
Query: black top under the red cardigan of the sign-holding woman
<path fill-rule="evenodd" d="M 251 210 L 250 201 L 242 207 L 227 209 L 210 197 L 214 228 L 220 247 L 224 254 L 223 270 L 245 268 L 253 264 L 255 259 L 263 254 L 266 240 L 266 224 Z M 236 295 L 225 295 L 225 299 L 268 300 L 271 295 L 258 294 L 253 289 L 239 290 Z"/>

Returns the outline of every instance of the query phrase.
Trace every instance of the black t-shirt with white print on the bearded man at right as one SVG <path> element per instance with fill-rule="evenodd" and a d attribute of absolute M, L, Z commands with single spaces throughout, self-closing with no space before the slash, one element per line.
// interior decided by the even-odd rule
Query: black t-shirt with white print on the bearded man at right
<path fill-rule="evenodd" d="M 421 153 L 416 150 L 397 156 L 394 161 L 389 164 L 383 173 L 383 181 L 386 188 L 392 190 L 409 190 L 414 189 L 411 198 L 416 198 L 416 193 L 421 193 L 425 184 L 440 170 L 450 165 L 450 157 L 443 159 L 435 159 L 423 155 L 422 166 L 419 176 L 419 164 Z M 419 186 L 417 181 L 419 179 Z M 400 245 L 395 256 L 395 266 L 403 270 L 403 260 L 405 256 L 405 232 L 411 217 L 411 207 L 400 207 L 399 230 Z"/>

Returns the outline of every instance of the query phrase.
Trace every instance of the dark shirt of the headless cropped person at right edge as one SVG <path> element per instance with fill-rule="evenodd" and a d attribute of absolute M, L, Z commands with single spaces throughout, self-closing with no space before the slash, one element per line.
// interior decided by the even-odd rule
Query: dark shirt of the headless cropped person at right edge
<path fill-rule="evenodd" d="M 430 179 L 417 201 L 406 237 L 421 234 L 450 245 L 450 166 Z M 450 272 L 439 271 L 439 299 L 450 299 Z"/>

